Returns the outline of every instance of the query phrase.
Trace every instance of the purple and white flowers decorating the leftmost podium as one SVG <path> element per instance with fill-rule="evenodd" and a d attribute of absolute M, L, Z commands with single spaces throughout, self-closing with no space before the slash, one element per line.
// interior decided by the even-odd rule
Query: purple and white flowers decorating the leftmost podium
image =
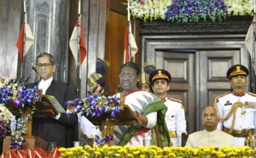
<path fill-rule="evenodd" d="M 17 151 L 24 144 L 22 134 L 26 134 L 26 123 L 31 119 L 32 113 L 35 112 L 35 102 L 40 101 L 40 94 L 38 94 L 38 87 L 33 87 L 32 89 L 18 87 L 15 82 L 9 82 L 9 79 L 6 77 L 1 77 L 0 81 L 0 139 L 11 135 L 10 149 Z M 10 132 L 10 118 L 12 114 L 5 107 L 11 101 L 13 101 L 13 105 L 18 107 L 18 112 L 21 115 L 24 115 L 26 107 L 31 107 L 32 109 L 28 115 L 18 118 L 12 133 Z"/>

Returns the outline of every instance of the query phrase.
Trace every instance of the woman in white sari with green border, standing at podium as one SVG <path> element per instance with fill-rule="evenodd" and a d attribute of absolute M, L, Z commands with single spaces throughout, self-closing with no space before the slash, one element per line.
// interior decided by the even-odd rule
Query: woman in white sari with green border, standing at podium
<path fill-rule="evenodd" d="M 152 93 L 141 91 L 137 87 L 138 74 L 140 68 L 135 62 L 127 62 L 121 65 L 119 74 L 120 85 L 124 89 L 117 93 L 116 97 L 125 98 L 124 104 L 135 111 L 135 115 L 141 119 L 142 124 L 139 126 L 115 126 L 114 127 L 114 144 L 118 146 L 143 146 L 143 139 L 151 138 L 151 129 L 157 121 L 157 112 L 162 112 L 160 126 L 163 131 L 161 134 L 169 140 L 164 115 L 167 110 L 165 104 Z M 155 108 L 157 107 L 157 108 Z"/>

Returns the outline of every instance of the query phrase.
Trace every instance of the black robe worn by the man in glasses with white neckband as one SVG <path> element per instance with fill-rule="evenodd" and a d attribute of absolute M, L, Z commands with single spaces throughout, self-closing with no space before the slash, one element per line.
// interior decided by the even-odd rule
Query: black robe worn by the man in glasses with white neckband
<path fill-rule="evenodd" d="M 26 87 L 34 87 L 39 83 L 32 83 Z M 66 101 L 74 99 L 70 87 L 64 82 L 57 82 L 54 79 L 46 90 L 46 95 L 54 96 L 65 108 Z M 56 120 L 50 116 L 34 116 L 32 122 L 32 134 L 42 137 L 47 143 L 58 143 L 61 147 L 72 147 L 73 141 L 78 141 L 78 120 L 77 114 L 68 118 L 65 113 L 60 114 Z"/>

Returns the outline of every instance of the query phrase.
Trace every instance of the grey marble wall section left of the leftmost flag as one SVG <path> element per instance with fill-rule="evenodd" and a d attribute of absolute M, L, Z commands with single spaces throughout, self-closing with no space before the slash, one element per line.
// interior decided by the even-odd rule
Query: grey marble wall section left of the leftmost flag
<path fill-rule="evenodd" d="M 0 0 L 0 76 L 17 77 L 22 1 Z"/>

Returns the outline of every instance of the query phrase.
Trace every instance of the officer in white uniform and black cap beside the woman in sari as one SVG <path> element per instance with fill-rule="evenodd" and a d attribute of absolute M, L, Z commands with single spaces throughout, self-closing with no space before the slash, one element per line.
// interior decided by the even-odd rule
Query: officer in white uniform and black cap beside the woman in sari
<path fill-rule="evenodd" d="M 154 95 L 162 99 L 168 108 L 165 120 L 172 146 L 181 146 L 182 133 L 187 133 L 185 111 L 182 101 L 167 96 L 170 89 L 171 75 L 166 70 L 157 69 L 150 73 L 149 81 L 153 85 Z"/>

